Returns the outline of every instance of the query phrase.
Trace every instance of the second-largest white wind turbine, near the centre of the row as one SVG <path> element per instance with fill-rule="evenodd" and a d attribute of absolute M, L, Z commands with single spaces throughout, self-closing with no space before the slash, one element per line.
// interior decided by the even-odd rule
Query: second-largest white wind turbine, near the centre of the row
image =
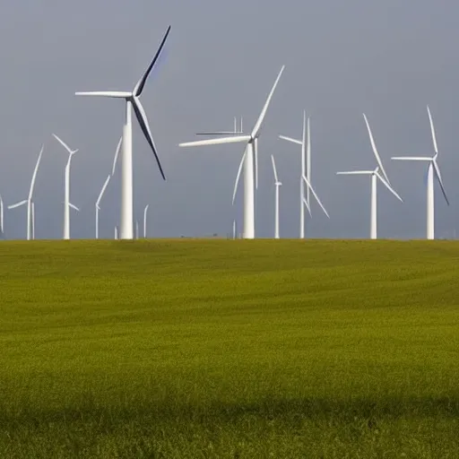
<path fill-rule="evenodd" d="M 267 100 L 264 103 L 264 108 L 262 109 L 260 116 L 256 120 L 255 126 L 252 129 L 252 132 L 249 135 L 234 135 L 232 137 L 221 137 L 216 139 L 208 139 L 195 142 L 186 142 L 179 143 L 180 147 L 188 146 L 203 146 L 203 145 L 217 145 L 221 143 L 247 143 L 246 151 L 244 156 L 239 164 L 238 177 L 236 178 L 236 184 L 233 193 L 233 203 L 234 197 L 236 195 L 236 190 L 238 186 L 238 178 L 244 164 L 244 230 L 243 238 L 253 239 L 255 238 L 255 192 L 254 192 L 254 152 L 256 155 L 257 152 L 257 143 L 258 137 L 261 133 L 261 127 L 263 126 L 264 117 L 266 111 L 269 107 L 271 99 L 273 98 L 273 93 L 276 89 L 276 86 L 281 79 L 281 74 L 285 68 L 285 65 L 282 65 L 281 71 L 277 75 L 276 81 L 273 84 L 273 89 L 268 95 Z"/>

